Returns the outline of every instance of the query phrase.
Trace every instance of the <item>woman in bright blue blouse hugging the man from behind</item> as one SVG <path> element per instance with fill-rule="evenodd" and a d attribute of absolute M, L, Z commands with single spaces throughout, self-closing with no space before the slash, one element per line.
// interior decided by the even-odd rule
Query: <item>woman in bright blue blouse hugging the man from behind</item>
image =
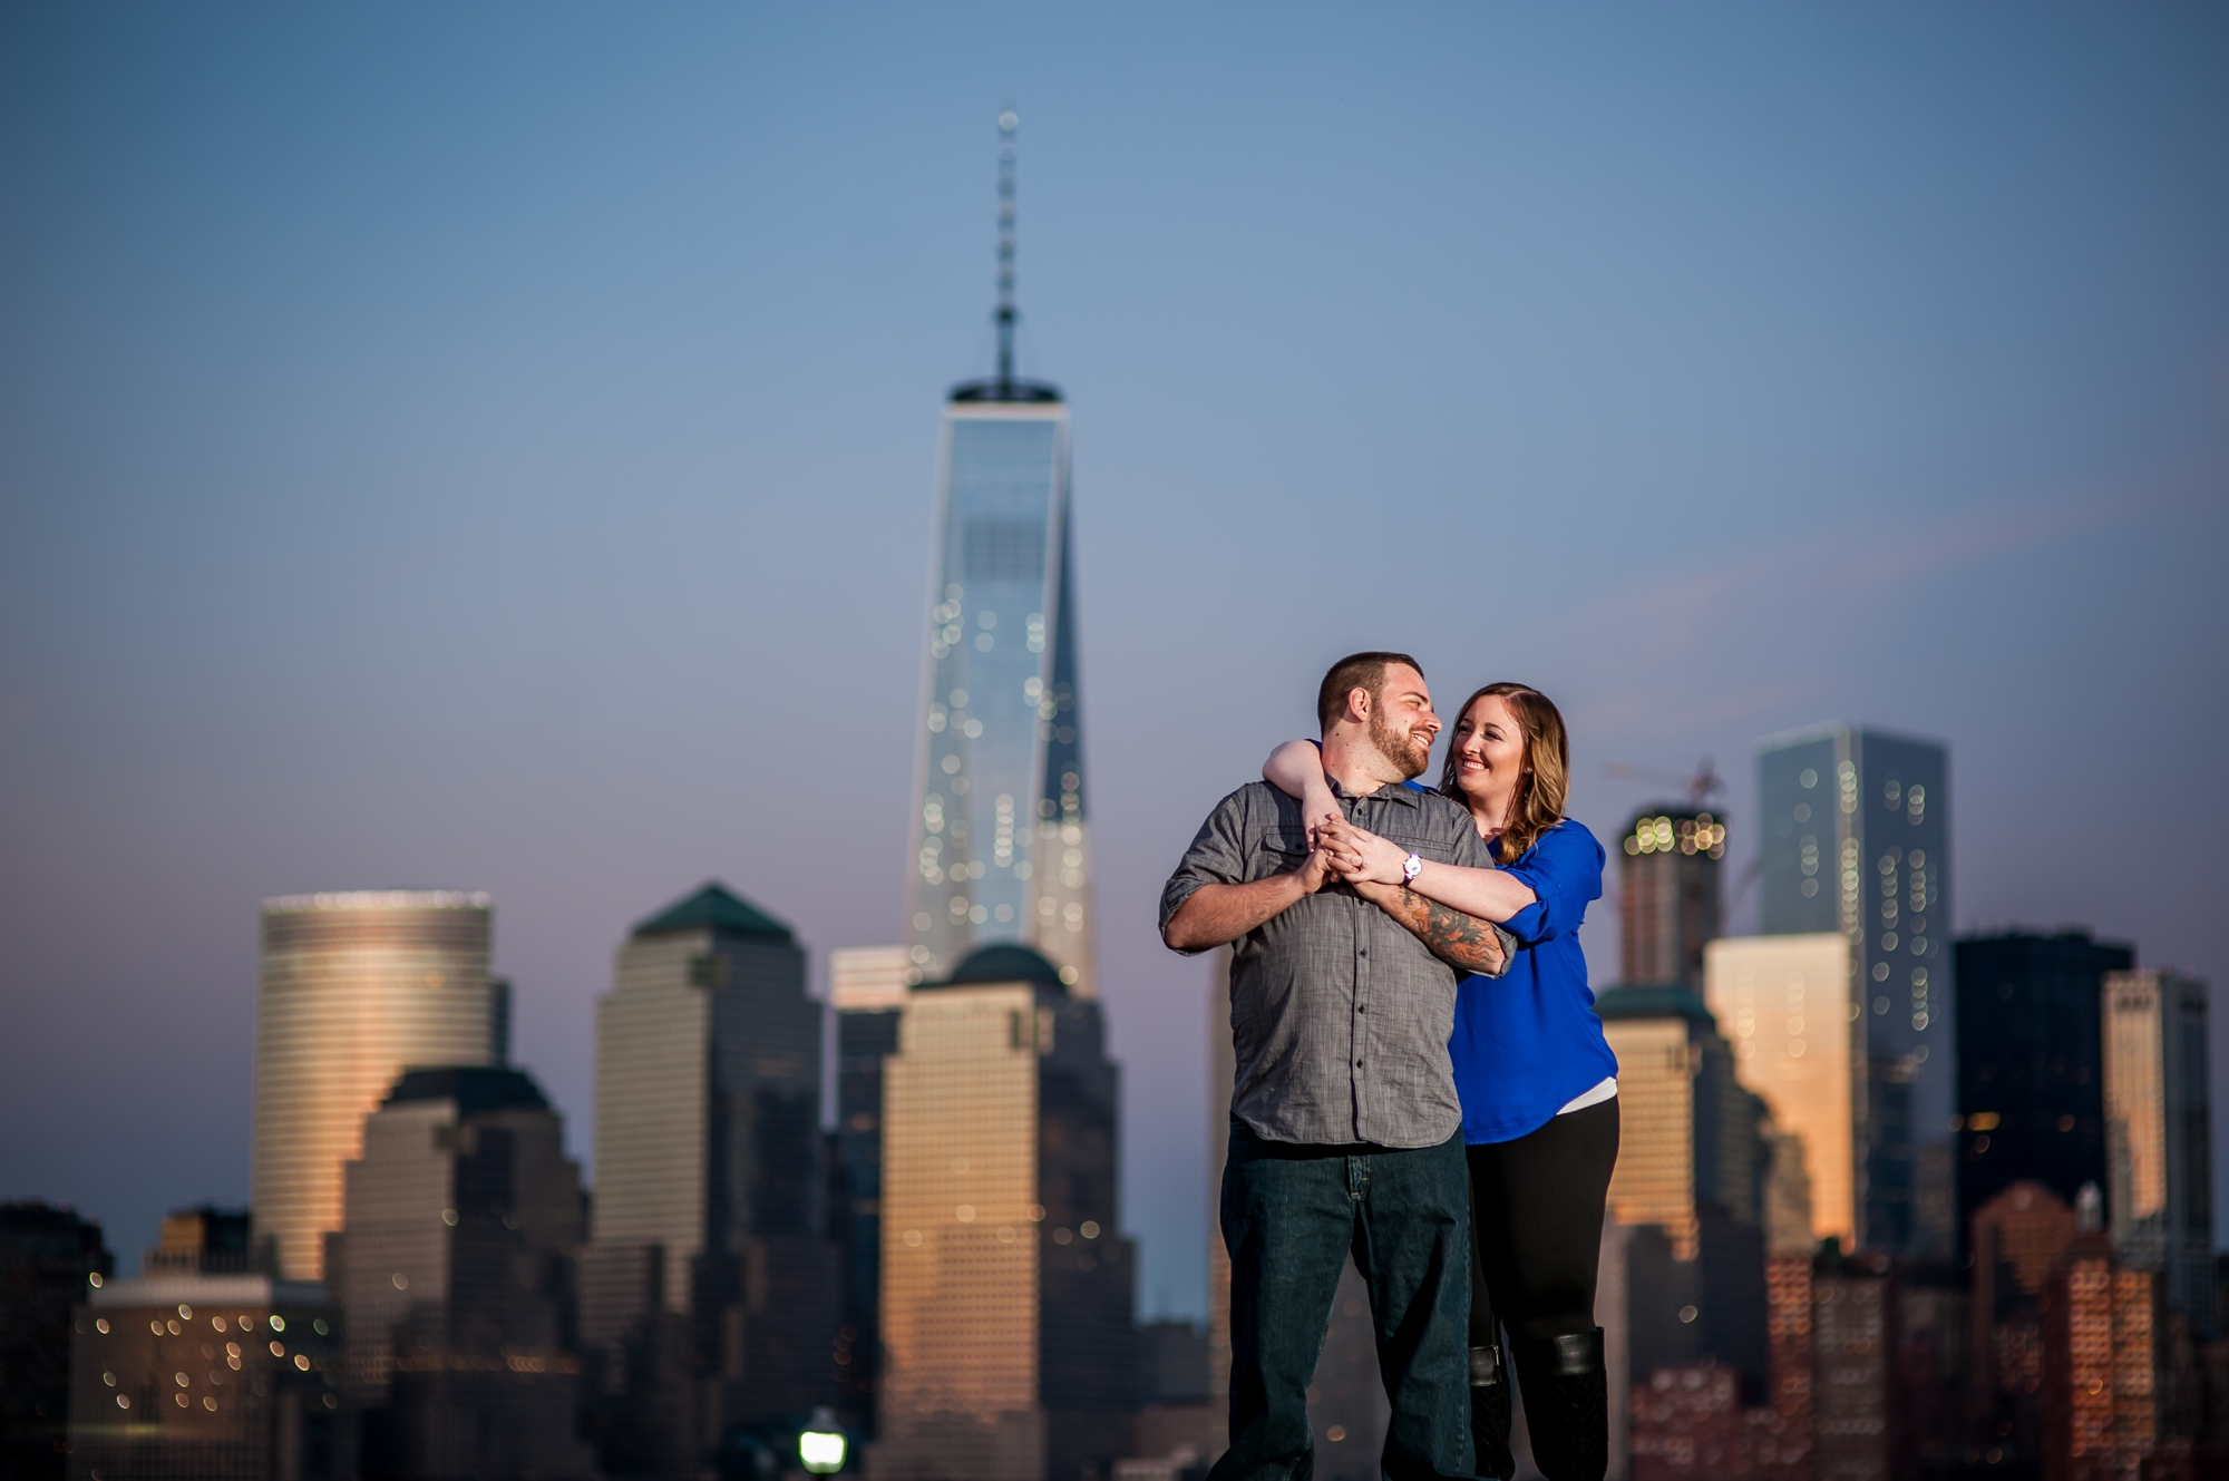
<path fill-rule="evenodd" d="M 1304 740 L 1279 747 L 1262 774 L 1302 798 L 1344 879 L 1404 881 L 1406 850 L 1344 819 Z M 1594 1015 L 1578 926 L 1603 894 L 1603 845 L 1563 814 L 1563 716 L 1525 685 L 1487 685 L 1464 700 L 1440 792 L 1471 810 L 1502 868 L 1422 861 L 1409 888 L 1518 939 L 1507 977 L 1456 988 L 1449 1042 L 1471 1162 L 1478 1474 L 1516 1474 L 1498 1340 L 1507 1327 L 1542 1474 L 1600 1481 L 1609 1414 L 1594 1278 L 1618 1160 L 1618 1062 Z"/>

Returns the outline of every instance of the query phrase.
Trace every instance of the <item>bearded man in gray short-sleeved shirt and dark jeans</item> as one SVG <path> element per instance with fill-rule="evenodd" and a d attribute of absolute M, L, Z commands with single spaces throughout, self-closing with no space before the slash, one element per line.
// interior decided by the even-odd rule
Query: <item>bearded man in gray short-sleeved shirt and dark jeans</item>
<path fill-rule="evenodd" d="M 1342 812 L 1413 861 L 1493 868 L 1469 812 L 1402 783 L 1440 720 L 1406 654 L 1353 654 L 1317 691 Z M 1447 1039 L 1460 972 L 1513 941 L 1400 885 L 1344 881 L 1266 783 L 1208 814 L 1161 892 L 1161 939 L 1230 946 L 1230 1450 L 1210 1481 L 1313 1454 L 1308 1381 L 1349 1256 L 1371 1287 L 1393 1423 L 1384 1474 L 1471 1477 L 1469 1173 Z"/>

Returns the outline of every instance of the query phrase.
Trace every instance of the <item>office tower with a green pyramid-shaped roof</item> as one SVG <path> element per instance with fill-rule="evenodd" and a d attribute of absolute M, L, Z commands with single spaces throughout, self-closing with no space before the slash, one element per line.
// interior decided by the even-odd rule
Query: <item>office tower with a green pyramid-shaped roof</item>
<path fill-rule="evenodd" d="M 609 1470 L 695 1465 L 836 1396 L 820 1004 L 789 926 L 720 883 L 635 926 L 595 1006 L 582 1343 Z"/>

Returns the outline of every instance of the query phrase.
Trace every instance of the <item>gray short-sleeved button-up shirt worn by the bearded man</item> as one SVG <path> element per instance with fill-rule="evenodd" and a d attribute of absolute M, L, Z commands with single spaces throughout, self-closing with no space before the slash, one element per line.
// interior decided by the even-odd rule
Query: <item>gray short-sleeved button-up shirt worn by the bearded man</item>
<path fill-rule="evenodd" d="M 1435 792 L 1380 787 L 1340 807 L 1355 827 L 1438 863 L 1493 868 L 1471 814 Z M 1161 926 L 1199 885 L 1239 885 L 1308 856 L 1300 803 L 1248 783 L 1201 823 L 1161 890 Z M 1516 950 L 1505 935 L 1502 948 Z M 1271 1142 L 1438 1146 L 1462 1124 L 1447 1039 L 1456 968 L 1344 883 L 1300 897 L 1230 948 L 1230 1113 Z M 1507 966 L 1502 968 L 1507 970 Z"/>

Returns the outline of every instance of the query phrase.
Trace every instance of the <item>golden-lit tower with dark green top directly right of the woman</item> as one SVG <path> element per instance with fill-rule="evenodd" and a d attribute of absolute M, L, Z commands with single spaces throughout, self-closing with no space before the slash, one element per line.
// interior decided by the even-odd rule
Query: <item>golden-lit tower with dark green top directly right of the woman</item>
<path fill-rule="evenodd" d="M 1674 1260 L 1665 1278 L 1636 1287 L 1632 1300 L 1674 1314 L 1683 1352 L 1665 1354 L 1672 1363 L 1714 1358 L 1761 1381 L 1761 1216 L 1772 1158 L 1759 1131 L 1765 1109 L 1736 1080 L 1734 1051 L 1687 988 L 1609 988 L 1596 1013 L 1618 1057 L 1623 1106 L 1609 1209 L 1620 1225 L 1663 1229 Z M 1629 1320 L 1641 1325 L 1643 1316 Z M 1658 1394 L 1652 1403 L 1663 1407 L 1672 1398 Z"/>

